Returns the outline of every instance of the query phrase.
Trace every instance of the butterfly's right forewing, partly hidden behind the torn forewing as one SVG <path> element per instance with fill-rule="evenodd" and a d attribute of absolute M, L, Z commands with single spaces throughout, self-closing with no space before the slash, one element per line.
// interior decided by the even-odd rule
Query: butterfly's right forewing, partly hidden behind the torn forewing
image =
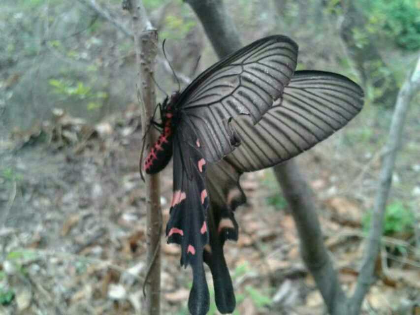
<path fill-rule="evenodd" d="M 226 160 L 241 172 L 284 162 L 345 126 L 362 108 L 363 91 L 329 72 L 296 71 L 283 99 L 254 126 L 248 117 L 232 122 L 241 146 Z"/>

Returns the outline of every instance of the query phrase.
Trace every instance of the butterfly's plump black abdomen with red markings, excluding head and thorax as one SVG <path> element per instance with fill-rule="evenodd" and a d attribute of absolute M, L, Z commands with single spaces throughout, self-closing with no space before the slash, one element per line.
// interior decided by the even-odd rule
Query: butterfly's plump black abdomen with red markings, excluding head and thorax
<path fill-rule="evenodd" d="M 172 157 L 172 113 L 166 113 L 162 133 L 153 145 L 144 162 L 144 170 L 147 174 L 160 172 L 169 163 Z"/>

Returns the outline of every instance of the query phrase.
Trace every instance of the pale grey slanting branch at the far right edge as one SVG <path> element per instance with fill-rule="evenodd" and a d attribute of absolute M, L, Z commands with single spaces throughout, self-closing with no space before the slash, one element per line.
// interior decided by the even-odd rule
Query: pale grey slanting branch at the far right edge
<path fill-rule="evenodd" d="M 401 146 L 402 129 L 404 127 L 404 121 L 407 116 L 410 101 L 419 90 L 420 57 L 414 72 L 406 80 L 397 96 L 395 111 L 392 116 L 386 145 L 387 155 L 382 164 L 378 191 L 375 198 L 368 243 L 364 253 L 360 274 L 357 278 L 355 294 L 351 299 L 352 314 L 354 315 L 359 314 L 363 297 L 369 290 L 370 285 L 374 282 L 375 261 L 381 246 L 382 226 L 389 190 L 391 188 L 392 172 L 394 170 L 397 150 Z"/>

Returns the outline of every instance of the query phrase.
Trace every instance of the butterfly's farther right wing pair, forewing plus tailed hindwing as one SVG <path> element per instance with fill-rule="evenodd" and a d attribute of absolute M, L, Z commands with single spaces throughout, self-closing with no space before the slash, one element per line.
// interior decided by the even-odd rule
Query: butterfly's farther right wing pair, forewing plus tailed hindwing
<path fill-rule="evenodd" d="M 246 201 L 240 175 L 310 149 L 345 126 L 363 106 L 363 91 L 357 84 L 322 71 L 296 71 L 282 97 L 257 125 L 247 117 L 236 119 L 232 126 L 241 145 L 207 169 L 210 239 L 204 247 L 204 261 L 210 267 L 216 305 L 222 314 L 232 313 L 236 304 L 223 246 L 226 240 L 238 239 L 233 211 Z"/>

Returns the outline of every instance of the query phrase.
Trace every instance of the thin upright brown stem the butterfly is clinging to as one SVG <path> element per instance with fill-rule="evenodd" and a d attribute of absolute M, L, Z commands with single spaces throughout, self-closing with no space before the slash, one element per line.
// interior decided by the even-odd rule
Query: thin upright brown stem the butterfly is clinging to
<path fill-rule="evenodd" d="M 136 63 L 139 66 L 137 79 L 137 95 L 143 103 L 141 126 L 143 136 L 156 106 L 155 85 L 153 82 L 154 63 L 158 34 L 150 23 L 141 0 L 123 0 L 123 8 L 128 9 L 131 15 Z M 146 143 L 156 141 L 156 132 L 153 128 L 144 137 Z M 142 165 L 140 165 L 142 167 Z M 146 300 L 145 314 L 159 315 L 161 312 L 161 233 L 162 212 L 160 202 L 160 176 L 146 176 L 147 200 L 147 264 L 148 271 L 144 288 Z"/>

